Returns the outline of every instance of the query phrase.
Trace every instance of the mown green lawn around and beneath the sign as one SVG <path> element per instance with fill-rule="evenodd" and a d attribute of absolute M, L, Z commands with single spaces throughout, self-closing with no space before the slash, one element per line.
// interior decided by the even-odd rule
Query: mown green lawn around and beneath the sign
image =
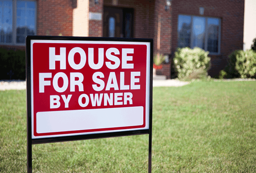
<path fill-rule="evenodd" d="M 256 172 L 256 82 L 153 88 L 153 173 Z M 32 147 L 34 173 L 141 173 L 148 135 Z M 0 91 L 0 173 L 26 172 L 26 92 Z"/>

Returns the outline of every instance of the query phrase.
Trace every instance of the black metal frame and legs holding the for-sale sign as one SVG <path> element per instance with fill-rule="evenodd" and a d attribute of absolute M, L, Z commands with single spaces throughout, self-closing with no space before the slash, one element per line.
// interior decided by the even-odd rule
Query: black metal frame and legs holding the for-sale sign
<path fill-rule="evenodd" d="M 149 42 L 150 43 L 150 79 L 149 79 L 149 128 L 110 133 L 81 134 L 32 139 L 32 100 L 31 100 L 31 40 L 84 40 L 84 41 L 119 41 L 119 42 Z M 151 173 L 152 159 L 152 81 L 153 81 L 153 39 L 109 38 L 109 37 L 62 37 L 62 36 L 27 36 L 26 37 L 26 98 L 27 98 L 27 172 L 32 173 L 32 145 L 75 140 L 88 140 L 118 136 L 149 134 L 148 142 L 148 172 Z"/>

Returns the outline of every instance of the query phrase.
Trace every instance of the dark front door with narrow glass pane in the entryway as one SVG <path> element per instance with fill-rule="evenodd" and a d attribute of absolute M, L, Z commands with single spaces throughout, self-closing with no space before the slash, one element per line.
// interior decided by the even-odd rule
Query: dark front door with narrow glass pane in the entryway
<path fill-rule="evenodd" d="M 133 37 L 133 9 L 104 7 L 103 37 Z"/>

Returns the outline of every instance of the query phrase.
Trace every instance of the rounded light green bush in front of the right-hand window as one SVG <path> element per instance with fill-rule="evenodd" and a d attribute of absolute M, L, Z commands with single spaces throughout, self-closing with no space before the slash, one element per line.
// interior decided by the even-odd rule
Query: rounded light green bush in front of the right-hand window
<path fill-rule="evenodd" d="M 210 68 L 209 52 L 200 48 L 178 48 L 175 52 L 174 65 L 179 79 L 204 79 Z"/>

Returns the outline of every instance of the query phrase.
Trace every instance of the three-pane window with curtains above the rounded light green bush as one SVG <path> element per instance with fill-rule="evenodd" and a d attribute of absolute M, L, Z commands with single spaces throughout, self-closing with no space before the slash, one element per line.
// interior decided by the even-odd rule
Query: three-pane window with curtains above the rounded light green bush
<path fill-rule="evenodd" d="M 211 54 L 219 54 L 219 40 L 219 18 L 178 16 L 178 47 L 199 47 Z"/>

